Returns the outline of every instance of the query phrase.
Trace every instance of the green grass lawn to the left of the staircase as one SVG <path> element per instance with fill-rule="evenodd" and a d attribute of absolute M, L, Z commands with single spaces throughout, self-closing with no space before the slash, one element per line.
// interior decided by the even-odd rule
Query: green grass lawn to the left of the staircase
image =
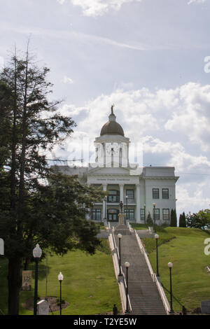
<path fill-rule="evenodd" d="M 88 315 L 112 311 L 113 304 L 121 309 L 118 283 L 113 269 L 113 260 L 109 252 L 108 241 L 95 255 L 82 251 L 71 251 L 66 255 L 48 256 L 48 296 L 59 297 L 57 275 L 62 272 L 62 299 L 69 302 L 62 314 Z M 39 263 L 38 296 L 45 297 L 45 260 Z M 34 270 L 34 264 L 29 266 Z M 7 314 L 7 261 L 0 258 L 0 309 Z M 31 291 L 20 293 L 20 314 L 32 314 L 22 307 L 25 300 L 34 297 L 34 280 Z M 53 312 L 59 314 L 59 311 Z"/>

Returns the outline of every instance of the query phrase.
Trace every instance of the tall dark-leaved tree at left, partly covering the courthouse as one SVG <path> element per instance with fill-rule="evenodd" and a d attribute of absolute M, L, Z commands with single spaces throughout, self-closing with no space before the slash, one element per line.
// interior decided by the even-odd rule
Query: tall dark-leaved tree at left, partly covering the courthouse
<path fill-rule="evenodd" d="M 8 314 L 19 312 L 22 260 L 37 242 L 60 254 L 71 248 L 94 253 L 98 244 L 97 228 L 83 218 L 102 193 L 53 174 L 46 160 L 76 126 L 59 113 L 59 101 L 49 101 L 48 73 L 32 62 L 29 44 L 0 73 L 0 236 L 8 258 Z"/>

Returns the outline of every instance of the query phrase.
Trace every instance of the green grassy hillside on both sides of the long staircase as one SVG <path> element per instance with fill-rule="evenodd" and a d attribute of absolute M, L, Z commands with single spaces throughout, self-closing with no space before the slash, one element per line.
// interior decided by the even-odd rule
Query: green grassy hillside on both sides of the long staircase
<path fill-rule="evenodd" d="M 134 225 L 133 225 L 134 226 Z M 210 255 L 204 254 L 204 239 L 209 232 L 191 228 L 158 228 L 159 272 L 162 285 L 169 300 L 169 268 L 173 262 L 172 286 L 174 311 L 182 305 L 188 311 L 200 307 L 201 300 L 210 300 Z M 155 239 L 143 239 L 148 257 L 156 272 Z M 62 297 L 69 302 L 62 314 L 102 314 L 111 312 L 113 304 L 120 309 L 120 294 L 113 261 L 107 240 L 95 255 L 72 251 L 62 256 L 49 256 L 48 296 L 59 297 L 57 275 L 64 274 Z M 29 269 L 34 270 L 34 264 Z M 0 258 L 0 309 L 7 314 L 7 260 Z M 39 264 L 38 295 L 45 297 L 45 260 Z M 22 307 L 23 302 L 34 296 L 31 291 L 20 293 L 20 314 L 32 314 Z M 55 312 L 54 314 L 59 314 Z"/>

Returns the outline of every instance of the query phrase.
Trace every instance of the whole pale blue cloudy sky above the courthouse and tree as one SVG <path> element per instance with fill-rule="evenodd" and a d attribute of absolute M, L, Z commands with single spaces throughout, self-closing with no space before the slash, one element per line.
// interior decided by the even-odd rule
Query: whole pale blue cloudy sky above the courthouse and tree
<path fill-rule="evenodd" d="M 0 0 L 0 65 L 8 50 L 47 65 L 53 97 L 78 127 L 54 155 L 94 140 L 115 104 L 144 165 L 174 165 L 177 213 L 210 204 L 209 0 Z M 209 57 L 209 58 L 208 58 Z M 92 148 L 93 151 L 93 148 Z M 78 158 L 80 154 L 77 152 Z"/>

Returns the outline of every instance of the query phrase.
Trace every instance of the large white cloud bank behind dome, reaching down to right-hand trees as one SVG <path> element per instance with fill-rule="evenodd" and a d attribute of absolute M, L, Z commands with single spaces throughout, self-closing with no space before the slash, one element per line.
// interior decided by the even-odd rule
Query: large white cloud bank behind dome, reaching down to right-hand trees
<path fill-rule="evenodd" d="M 123 83 L 121 83 L 123 86 Z M 208 206 L 209 195 L 209 108 L 210 85 L 187 83 L 173 90 L 114 90 L 101 94 L 84 106 L 64 104 L 60 111 L 71 116 L 78 127 L 64 146 L 64 158 L 85 158 L 94 162 L 93 141 L 109 119 L 115 104 L 116 120 L 125 137 L 143 145 L 144 165 L 172 166 L 177 183 L 177 214 Z M 203 133 L 205 132 L 205 133 Z M 208 137 L 208 138 L 207 138 Z M 85 141 L 85 147 L 81 148 Z M 56 150 L 59 155 L 59 150 Z"/>

